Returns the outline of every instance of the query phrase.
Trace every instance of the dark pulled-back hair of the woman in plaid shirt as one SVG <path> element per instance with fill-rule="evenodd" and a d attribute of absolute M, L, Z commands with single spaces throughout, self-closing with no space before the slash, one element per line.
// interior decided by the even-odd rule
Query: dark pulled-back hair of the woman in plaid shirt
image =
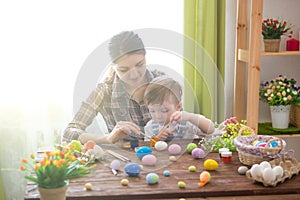
<path fill-rule="evenodd" d="M 146 53 L 142 39 L 133 31 L 123 31 L 113 36 L 108 46 L 112 62 L 116 62 L 121 56 L 142 51 Z"/>

